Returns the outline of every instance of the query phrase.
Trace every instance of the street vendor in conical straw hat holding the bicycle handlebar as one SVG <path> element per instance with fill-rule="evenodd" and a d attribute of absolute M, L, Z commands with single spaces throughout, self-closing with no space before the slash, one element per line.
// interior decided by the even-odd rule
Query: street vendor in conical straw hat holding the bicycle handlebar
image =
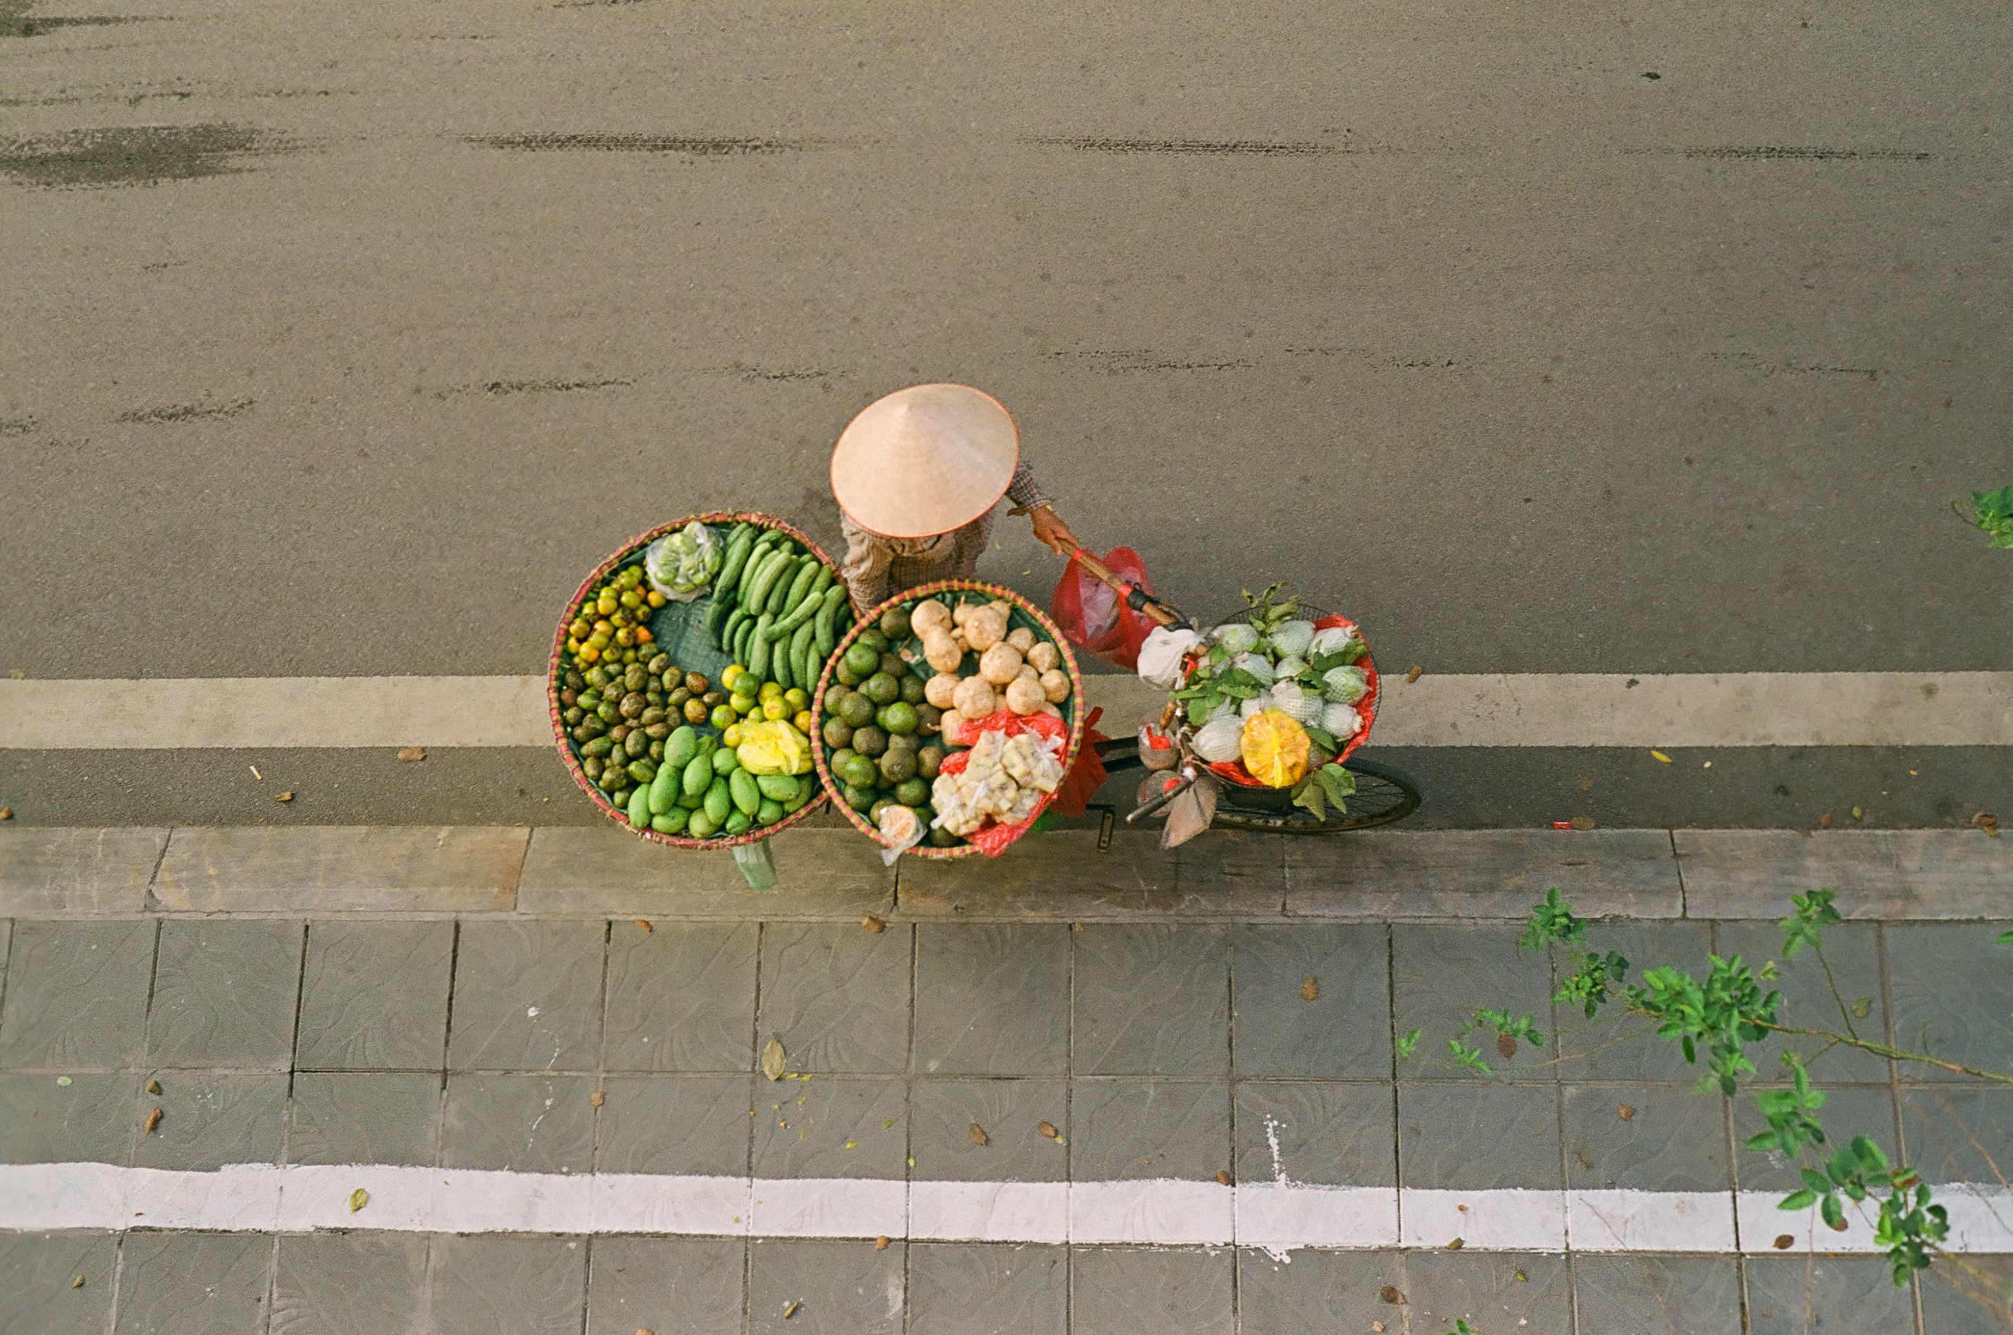
<path fill-rule="evenodd" d="M 966 385 L 912 385 L 862 409 L 831 449 L 831 493 L 862 616 L 906 588 L 972 578 L 1002 495 L 1057 556 L 1077 550 L 1021 461 L 1013 417 Z"/>

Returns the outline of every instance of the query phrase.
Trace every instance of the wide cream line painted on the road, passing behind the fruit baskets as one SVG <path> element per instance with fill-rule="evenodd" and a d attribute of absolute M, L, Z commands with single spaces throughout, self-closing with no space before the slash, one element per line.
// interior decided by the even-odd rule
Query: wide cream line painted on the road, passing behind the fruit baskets
<path fill-rule="evenodd" d="M 1157 717 L 1087 679 L 1105 733 Z M 1385 747 L 2007 747 L 2013 673 L 1461 675 L 1385 679 Z M 0 681 L 0 749 L 546 747 L 537 677 Z"/>

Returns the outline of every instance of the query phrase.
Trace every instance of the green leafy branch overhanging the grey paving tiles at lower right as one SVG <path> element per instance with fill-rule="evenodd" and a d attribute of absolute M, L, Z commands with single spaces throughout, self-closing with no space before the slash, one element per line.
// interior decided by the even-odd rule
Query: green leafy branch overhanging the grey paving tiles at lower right
<path fill-rule="evenodd" d="M 1858 1033 L 1854 1021 L 1872 1013 L 1872 1001 L 1848 1003 L 1824 954 L 1824 930 L 1842 922 L 1836 894 L 1836 890 L 1812 890 L 1790 896 L 1792 912 L 1779 926 L 1784 930 L 1784 960 L 1810 950 L 1824 969 L 1826 987 L 1838 1005 L 1838 1031 L 1782 1023 L 1782 993 L 1763 989 L 1763 983 L 1777 977 L 1773 960 L 1765 962 L 1757 975 L 1737 954 L 1725 958 L 1713 954 L 1707 956 L 1703 979 L 1683 969 L 1659 967 L 1645 971 L 1641 983 L 1629 983 L 1629 960 L 1614 950 L 1602 952 L 1588 946 L 1586 922 L 1560 898 L 1558 886 L 1546 892 L 1542 904 L 1532 906 L 1520 948 L 1558 946 L 1570 962 L 1570 973 L 1560 977 L 1554 1003 L 1576 1007 L 1586 1019 L 1594 1019 L 1604 1007 L 1614 1005 L 1653 1021 L 1655 1033 L 1675 1041 L 1687 1063 L 1705 1065 L 1707 1073 L 1699 1079 L 1701 1093 L 1717 1089 L 1725 1097 L 1735 1097 L 1741 1081 L 1755 1075 L 1747 1047 L 1775 1033 L 1824 1039 L 1818 1055 L 1832 1047 L 1858 1047 L 1892 1061 L 1910 1061 L 1989 1083 L 2013 1085 L 2013 1075 L 2005 1071 L 1987 1071 L 1947 1061 L 1934 1053 L 1892 1047 Z M 1997 940 L 2013 944 L 2013 932 L 2003 932 Z M 1504 1057 L 1514 1055 L 1516 1041 L 1526 1041 L 1532 1047 L 1544 1043 L 1544 1035 L 1530 1015 L 1510 1015 L 1484 1007 L 1461 1025 L 1459 1037 L 1447 1039 L 1455 1065 L 1480 1073 L 1490 1073 L 1482 1049 L 1461 1041 L 1478 1029 L 1498 1035 L 1498 1051 Z M 1397 1041 L 1397 1055 L 1411 1057 L 1419 1037 L 1419 1029 L 1405 1033 Z M 1856 1136 L 1846 1146 L 1832 1146 L 1820 1118 L 1824 1091 L 1812 1087 L 1804 1057 L 1784 1053 L 1782 1063 L 1790 1071 L 1792 1087 L 1755 1091 L 1755 1105 L 1769 1130 L 1747 1140 L 1749 1150 L 1777 1152 L 1800 1166 L 1798 1176 L 1804 1186 L 1792 1192 L 1782 1208 L 1808 1210 L 1816 1206 L 1830 1228 L 1844 1230 L 1848 1202 L 1862 1214 L 1866 1206 L 1874 1206 L 1878 1210 L 1874 1238 L 1886 1248 L 1896 1287 L 1906 1287 L 1910 1275 L 1937 1263 L 1971 1279 L 1973 1297 L 1981 1297 L 1983 1291 L 1995 1307 L 2001 1305 L 2003 1299 L 1991 1297 L 1995 1293 L 1991 1279 L 1945 1250 L 1943 1242 L 1951 1232 L 1949 1216 L 1934 1202 L 1928 1184 L 1906 1166 L 1894 1166 L 1866 1136 Z"/>

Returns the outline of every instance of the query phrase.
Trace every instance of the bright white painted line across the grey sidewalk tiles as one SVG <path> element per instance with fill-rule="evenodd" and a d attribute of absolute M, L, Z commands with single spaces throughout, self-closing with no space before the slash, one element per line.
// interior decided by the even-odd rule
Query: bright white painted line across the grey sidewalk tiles
<path fill-rule="evenodd" d="M 368 1194 L 350 1208 L 356 1188 Z M 2013 1192 L 1939 1186 L 1953 1250 L 2013 1252 Z M 535 1174 L 389 1164 L 231 1164 L 215 1172 L 109 1164 L 0 1166 L 0 1232 L 221 1232 L 928 1238 L 1159 1246 L 1447 1246 L 1518 1252 L 1880 1250 L 1870 1222 L 1832 1232 L 1767 1192 L 1393 1190 L 1254 1182 L 896 1182 Z M 1403 1220 L 1403 1224 L 1401 1224 Z"/>

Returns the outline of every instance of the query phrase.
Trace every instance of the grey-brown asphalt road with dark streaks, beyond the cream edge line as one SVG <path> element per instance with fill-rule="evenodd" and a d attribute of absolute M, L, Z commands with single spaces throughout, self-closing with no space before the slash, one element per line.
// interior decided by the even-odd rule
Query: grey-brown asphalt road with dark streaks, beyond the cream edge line
<path fill-rule="evenodd" d="M 1292 578 L 1387 662 L 2003 671 L 1947 503 L 2013 481 L 2009 58 L 1995 4 L 0 0 L 0 671 L 537 671 L 634 532 L 833 540 L 930 379 L 1178 602 Z"/>

